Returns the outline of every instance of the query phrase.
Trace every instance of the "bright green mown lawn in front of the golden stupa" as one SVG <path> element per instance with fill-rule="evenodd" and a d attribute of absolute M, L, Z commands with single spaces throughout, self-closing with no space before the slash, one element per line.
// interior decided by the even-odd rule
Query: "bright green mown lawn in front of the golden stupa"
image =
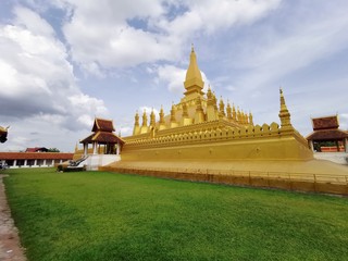
<path fill-rule="evenodd" d="M 30 261 L 348 260 L 348 199 L 104 172 L 8 170 Z"/>

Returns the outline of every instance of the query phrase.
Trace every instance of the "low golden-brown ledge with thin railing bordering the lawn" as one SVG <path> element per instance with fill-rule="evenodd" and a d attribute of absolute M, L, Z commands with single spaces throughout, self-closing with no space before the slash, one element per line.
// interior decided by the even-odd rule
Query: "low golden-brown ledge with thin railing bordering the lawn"
<path fill-rule="evenodd" d="M 192 182 L 348 195 L 348 175 L 132 166 L 105 166 L 101 170 Z"/>

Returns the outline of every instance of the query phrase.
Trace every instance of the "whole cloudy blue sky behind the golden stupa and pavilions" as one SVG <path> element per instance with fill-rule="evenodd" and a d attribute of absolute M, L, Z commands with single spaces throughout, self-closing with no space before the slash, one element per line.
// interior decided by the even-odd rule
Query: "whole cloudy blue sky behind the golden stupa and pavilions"
<path fill-rule="evenodd" d="M 73 151 L 95 116 L 132 133 L 136 110 L 169 113 L 191 44 L 217 97 L 293 125 L 338 114 L 348 128 L 347 0 L 1 0 L 1 151 Z"/>

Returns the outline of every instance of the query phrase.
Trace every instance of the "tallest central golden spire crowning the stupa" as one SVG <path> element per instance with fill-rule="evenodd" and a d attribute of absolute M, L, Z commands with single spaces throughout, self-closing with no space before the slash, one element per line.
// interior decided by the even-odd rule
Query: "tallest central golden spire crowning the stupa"
<path fill-rule="evenodd" d="M 189 96 L 192 94 L 203 95 L 202 89 L 204 86 L 204 82 L 202 80 L 202 75 L 197 64 L 197 58 L 194 50 L 194 46 L 191 48 L 191 53 L 189 57 L 189 65 L 186 72 L 186 79 L 184 82 L 184 86 L 186 89 L 185 96 Z"/>

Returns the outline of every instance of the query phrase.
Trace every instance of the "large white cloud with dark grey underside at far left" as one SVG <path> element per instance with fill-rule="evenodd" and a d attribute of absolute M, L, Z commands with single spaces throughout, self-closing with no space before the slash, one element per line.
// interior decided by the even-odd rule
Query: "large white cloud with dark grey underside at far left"
<path fill-rule="evenodd" d="M 67 50 L 53 28 L 33 11 L 16 7 L 12 25 L 0 25 L 0 114 L 39 117 L 76 129 L 76 119 L 108 113 L 103 101 L 76 85 Z"/>

